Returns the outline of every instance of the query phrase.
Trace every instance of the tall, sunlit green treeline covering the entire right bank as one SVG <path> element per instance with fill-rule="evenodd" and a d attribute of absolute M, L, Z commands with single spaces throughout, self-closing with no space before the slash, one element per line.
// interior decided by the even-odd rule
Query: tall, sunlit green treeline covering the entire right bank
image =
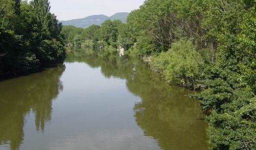
<path fill-rule="evenodd" d="M 255 0 L 145 0 L 113 24 L 92 31 L 95 50 L 123 45 L 169 82 L 200 89 L 211 149 L 256 149 Z"/>

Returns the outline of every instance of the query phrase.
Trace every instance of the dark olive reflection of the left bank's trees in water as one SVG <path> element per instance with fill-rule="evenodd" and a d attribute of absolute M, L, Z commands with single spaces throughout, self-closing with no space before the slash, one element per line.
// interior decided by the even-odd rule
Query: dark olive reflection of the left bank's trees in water
<path fill-rule="evenodd" d="M 62 89 L 59 80 L 63 65 L 47 68 L 40 73 L 0 82 L 0 144 L 18 149 L 23 140 L 25 116 L 32 110 L 37 130 L 44 130 L 50 121 L 51 104 Z"/>

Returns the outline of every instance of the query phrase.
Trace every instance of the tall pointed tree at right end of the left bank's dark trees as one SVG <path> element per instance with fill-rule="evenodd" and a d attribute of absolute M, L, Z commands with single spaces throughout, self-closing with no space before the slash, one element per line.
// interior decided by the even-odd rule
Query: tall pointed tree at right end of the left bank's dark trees
<path fill-rule="evenodd" d="M 58 23 L 56 16 L 50 13 L 48 0 L 33 0 L 31 5 L 39 19 L 38 26 L 40 28 L 40 39 L 37 43 L 39 47 L 35 51 L 36 57 L 43 65 L 62 60 L 65 51 L 63 48 L 64 42 L 60 36 L 61 24 Z"/>

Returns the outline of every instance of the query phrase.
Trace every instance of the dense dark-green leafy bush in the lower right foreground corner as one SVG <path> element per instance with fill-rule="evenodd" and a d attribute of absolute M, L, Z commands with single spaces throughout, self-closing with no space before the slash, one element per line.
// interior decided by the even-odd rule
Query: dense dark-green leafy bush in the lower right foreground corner
<path fill-rule="evenodd" d="M 255 149 L 256 99 L 241 74 L 220 67 L 205 68 L 207 89 L 195 94 L 208 114 L 212 149 Z M 249 73 L 250 74 L 250 73 Z"/>

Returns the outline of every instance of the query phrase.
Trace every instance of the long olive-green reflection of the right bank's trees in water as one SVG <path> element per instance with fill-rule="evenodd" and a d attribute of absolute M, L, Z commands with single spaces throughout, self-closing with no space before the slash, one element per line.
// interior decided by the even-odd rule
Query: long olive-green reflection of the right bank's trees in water
<path fill-rule="evenodd" d="M 106 77 L 125 78 L 128 89 L 141 97 L 135 104 L 137 124 L 163 149 L 207 149 L 203 114 L 188 90 L 168 86 L 145 64 L 119 57 L 84 56 L 84 61 L 100 66 Z"/>

